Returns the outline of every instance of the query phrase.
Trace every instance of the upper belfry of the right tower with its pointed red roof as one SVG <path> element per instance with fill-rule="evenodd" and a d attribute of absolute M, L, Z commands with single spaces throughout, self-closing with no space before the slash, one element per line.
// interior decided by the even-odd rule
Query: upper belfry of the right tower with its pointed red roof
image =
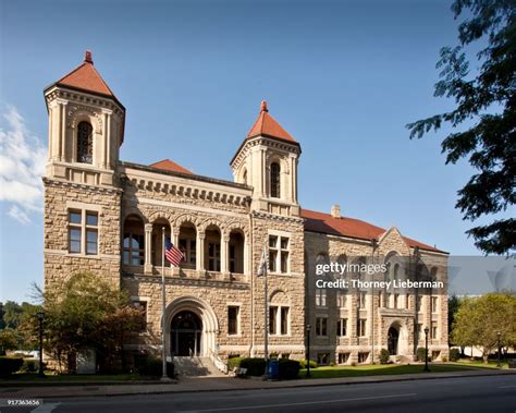
<path fill-rule="evenodd" d="M 254 187 L 255 210 L 298 217 L 297 162 L 300 145 L 269 114 L 260 113 L 231 161 L 235 182 Z"/>

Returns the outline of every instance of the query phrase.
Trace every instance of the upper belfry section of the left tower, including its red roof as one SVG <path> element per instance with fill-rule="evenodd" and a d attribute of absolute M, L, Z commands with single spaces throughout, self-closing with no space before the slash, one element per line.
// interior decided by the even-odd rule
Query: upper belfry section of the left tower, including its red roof
<path fill-rule="evenodd" d="M 49 117 L 47 178 L 112 185 L 124 139 L 125 108 L 94 66 L 84 62 L 45 89 Z"/>

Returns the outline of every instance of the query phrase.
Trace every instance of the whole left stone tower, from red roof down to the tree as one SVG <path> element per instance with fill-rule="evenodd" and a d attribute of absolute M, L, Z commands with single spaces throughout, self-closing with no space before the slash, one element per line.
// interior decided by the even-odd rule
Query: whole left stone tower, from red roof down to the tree
<path fill-rule="evenodd" d="M 120 286 L 122 190 L 116 169 L 125 108 L 84 62 L 45 89 L 49 142 L 45 185 L 45 287 L 74 274 Z"/>

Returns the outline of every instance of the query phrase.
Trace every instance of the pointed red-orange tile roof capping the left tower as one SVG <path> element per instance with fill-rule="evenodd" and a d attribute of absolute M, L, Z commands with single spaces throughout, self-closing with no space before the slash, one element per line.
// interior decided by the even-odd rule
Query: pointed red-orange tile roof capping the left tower
<path fill-rule="evenodd" d="M 89 50 L 86 51 L 83 64 L 61 77 L 57 84 L 115 98 L 113 92 L 109 88 L 102 76 L 100 76 L 100 73 L 94 68 Z"/>

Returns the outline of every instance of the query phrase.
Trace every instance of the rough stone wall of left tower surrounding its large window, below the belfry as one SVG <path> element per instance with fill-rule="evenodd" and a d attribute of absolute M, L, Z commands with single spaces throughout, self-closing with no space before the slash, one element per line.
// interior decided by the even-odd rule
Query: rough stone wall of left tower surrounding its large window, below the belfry
<path fill-rule="evenodd" d="M 96 256 L 69 253 L 67 203 L 100 208 Z M 69 204 L 70 205 L 70 204 Z M 91 272 L 120 287 L 120 205 L 116 190 L 45 179 L 45 288 L 61 286 L 72 275 Z M 75 208 L 74 208 L 75 209 Z"/>

